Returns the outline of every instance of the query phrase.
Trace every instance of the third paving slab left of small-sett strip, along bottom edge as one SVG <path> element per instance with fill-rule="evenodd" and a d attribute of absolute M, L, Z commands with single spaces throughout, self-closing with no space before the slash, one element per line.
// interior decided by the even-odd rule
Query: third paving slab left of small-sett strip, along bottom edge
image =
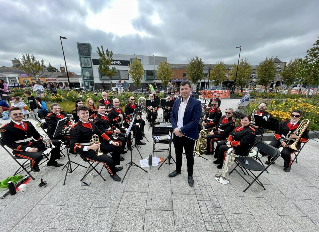
<path fill-rule="evenodd" d="M 112 231 L 142 231 L 147 193 L 124 192 Z"/>

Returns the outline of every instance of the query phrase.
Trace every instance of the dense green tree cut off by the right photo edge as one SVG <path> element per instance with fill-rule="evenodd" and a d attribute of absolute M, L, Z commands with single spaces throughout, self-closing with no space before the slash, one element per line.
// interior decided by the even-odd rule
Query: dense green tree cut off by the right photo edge
<path fill-rule="evenodd" d="M 299 74 L 302 83 L 307 83 L 309 88 L 306 94 L 310 92 L 310 87 L 319 84 L 319 37 L 317 41 L 312 45 L 313 47 L 307 50 L 307 55 L 302 61 Z"/>

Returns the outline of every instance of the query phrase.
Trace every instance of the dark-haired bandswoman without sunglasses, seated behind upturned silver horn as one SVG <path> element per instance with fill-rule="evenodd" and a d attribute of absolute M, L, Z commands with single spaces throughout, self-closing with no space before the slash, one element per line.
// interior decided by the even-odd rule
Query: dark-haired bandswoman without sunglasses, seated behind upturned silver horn
<path fill-rule="evenodd" d="M 217 144 L 214 155 L 214 158 L 217 159 L 213 163 L 218 164 L 218 169 L 223 167 L 227 150 L 230 147 L 234 147 L 236 155 L 241 155 L 254 143 L 256 138 L 255 129 L 250 126 L 250 121 L 251 117 L 249 115 L 243 115 L 241 117 L 241 125 L 236 126 L 230 132 L 226 141 L 221 141 Z"/>

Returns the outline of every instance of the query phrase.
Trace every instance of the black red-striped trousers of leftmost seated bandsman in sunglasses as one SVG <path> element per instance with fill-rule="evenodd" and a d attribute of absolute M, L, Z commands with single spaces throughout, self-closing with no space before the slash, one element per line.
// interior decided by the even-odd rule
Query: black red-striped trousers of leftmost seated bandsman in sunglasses
<path fill-rule="evenodd" d="M 61 142 L 58 140 L 52 140 L 52 144 L 55 146 L 55 148 L 53 148 L 51 151 L 50 162 L 54 162 L 56 159 L 60 158 Z M 32 167 L 38 167 L 38 164 L 43 158 L 43 155 L 41 152 L 47 150 L 47 148 L 45 147 L 43 143 L 39 143 L 39 142 L 33 142 L 28 147 L 38 148 L 40 152 L 39 151 L 35 151 L 35 152 L 13 151 L 12 153 L 16 156 L 30 159 Z"/>

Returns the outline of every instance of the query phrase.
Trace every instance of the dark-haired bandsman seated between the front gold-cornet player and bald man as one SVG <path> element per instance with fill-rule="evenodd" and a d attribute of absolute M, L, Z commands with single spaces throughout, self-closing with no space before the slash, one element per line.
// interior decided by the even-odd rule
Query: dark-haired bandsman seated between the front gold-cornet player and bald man
<path fill-rule="evenodd" d="M 99 128 L 100 131 L 104 131 L 104 133 L 112 139 L 114 142 L 119 142 L 122 144 L 121 153 L 125 154 L 127 151 L 125 151 L 125 134 L 121 133 L 121 131 L 116 128 L 114 125 L 112 125 L 109 122 L 108 116 L 105 115 L 105 105 L 99 103 L 96 106 L 96 109 L 98 111 L 97 115 L 94 117 L 93 122 Z M 116 133 L 118 135 L 118 138 L 113 137 L 113 133 Z M 120 160 L 124 160 L 124 158 L 121 156 Z"/>

